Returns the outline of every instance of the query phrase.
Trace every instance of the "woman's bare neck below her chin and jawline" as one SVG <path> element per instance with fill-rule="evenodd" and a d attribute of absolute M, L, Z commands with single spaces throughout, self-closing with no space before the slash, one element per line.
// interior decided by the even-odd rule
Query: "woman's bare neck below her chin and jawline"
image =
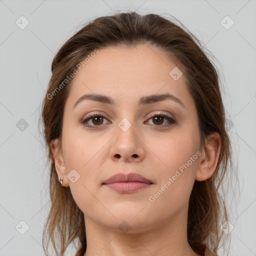
<path fill-rule="evenodd" d="M 134 218 L 135 219 L 135 218 Z M 87 249 L 84 256 L 196 256 L 187 242 L 187 211 L 164 222 L 147 223 L 120 220 L 124 228 L 110 228 L 84 215 Z M 131 227 L 130 229 L 128 228 Z M 125 230 L 126 227 L 126 230 Z M 142 231 L 141 231 L 142 230 Z"/>

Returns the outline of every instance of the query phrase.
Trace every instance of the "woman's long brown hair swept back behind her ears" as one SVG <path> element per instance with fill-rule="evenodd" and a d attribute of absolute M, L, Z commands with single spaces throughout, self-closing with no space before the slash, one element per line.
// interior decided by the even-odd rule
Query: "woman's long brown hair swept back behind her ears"
<path fill-rule="evenodd" d="M 59 185 L 50 147 L 54 139 L 61 138 L 63 109 L 70 89 L 70 80 L 66 80 L 66 77 L 95 49 L 107 46 L 129 47 L 141 43 L 160 48 L 182 70 L 195 102 L 201 145 L 205 145 L 205 138 L 211 132 L 220 134 L 220 155 L 214 174 L 205 181 L 195 180 L 191 191 L 187 240 L 199 254 L 205 253 L 205 249 L 217 253 L 221 242 L 224 244 L 227 236 L 223 236 L 220 226 L 228 220 L 228 212 L 219 187 L 227 172 L 232 169 L 232 154 L 225 127 L 219 73 L 206 56 L 199 40 L 181 26 L 157 14 L 127 12 L 102 16 L 83 25 L 54 56 L 52 75 L 41 112 L 50 165 L 51 207 L 43 230 L 43 249 L 46 255 L 50 242 L 56 255 L 63 255 L 67 246 L 72 242 L 75 244 L 75 240 L 78 242 L 76 256 L 83 255 L 86 250 L 83 212 L 74 202 L 69 186 Z"/>

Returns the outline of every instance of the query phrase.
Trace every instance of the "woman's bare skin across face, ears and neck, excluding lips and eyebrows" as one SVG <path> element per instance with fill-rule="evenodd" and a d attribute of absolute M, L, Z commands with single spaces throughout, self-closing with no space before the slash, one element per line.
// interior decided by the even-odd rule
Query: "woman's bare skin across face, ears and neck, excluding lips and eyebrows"
<path fill-rule="evenodd" d="M 214 173 L 220 137 L 214 132 L 205 147 L 199 147 L 195 104 L 185 75 L 178 80 L 170 77 L 175 66 L 154 46 L 106 47 L 99 49 L 72 80 L 62 136 L 53 140 L 51 147 L 58 178 L 63 177 L 63 186 L 70 186 L 84 213 L 84 256 L 199 255 L 187 242 L 188 201 L 194 181 L 206 180 Z M 109 96 L 115 105 L 86 99 L 72 109 L 85 93 Z M 162 93 L 173 94 L 184 107 L 170 99 L 138 105 L 140 97 Z M 96 128 L 79 122 L 95 112 L 104 116 L 101 126 L 95 118 L 87 123 Z M 160 128 L 168 120 L 154 121 L 150 118 L 154 113 L 166 114 L 176 123 Z M 131 124 L 126 131 L 118 126 L 123 118 Z M 149 201 L 149 196 L 197 151 L 200 156 L 154 202 Z M 72 169 L 80 175 L 74 183 L 66 176 Z M 126 194 L 102 185 L 118 172 L 139 173 L 153 184 Z M 118 228 L 124 220 L 131 227 L 126 233 Z"/>

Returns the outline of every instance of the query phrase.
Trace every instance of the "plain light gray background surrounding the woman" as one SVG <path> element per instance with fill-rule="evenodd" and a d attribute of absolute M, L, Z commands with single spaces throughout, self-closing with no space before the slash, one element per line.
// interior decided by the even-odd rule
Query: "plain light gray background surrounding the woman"
<path fill-rule="evenodd" d="M 237 213 L 230 219 L 229 255 L 256 255 L 255 0 L 0 0 L 0 255 L 43 255 L 49 197 L 37 123 L 51 61 L 78 25 L 113 10 L 174 15 L 219 61 L 241 187 L 231 209 Z M 21 15 L 29 21 L 24 29 L 15 23 Z M 229 29 L 220 23 L 226 15 L 234 21 Z M 235 183 L 231 187 L 237 192 Z M 29 226 L 24 234 L 20 221 Z"/>

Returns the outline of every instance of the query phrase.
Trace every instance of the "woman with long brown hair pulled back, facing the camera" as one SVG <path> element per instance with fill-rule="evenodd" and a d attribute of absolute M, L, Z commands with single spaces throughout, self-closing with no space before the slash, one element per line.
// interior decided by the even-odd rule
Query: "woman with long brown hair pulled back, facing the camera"
<path fill-rule="evenodd" d="M 156 14 L 96 18 L 56 53 L 42 108 L 63 255 L 217 255 L 231 147 L 218 73 Z M 77 239 L 76 239 L 77 238 Z"/>

